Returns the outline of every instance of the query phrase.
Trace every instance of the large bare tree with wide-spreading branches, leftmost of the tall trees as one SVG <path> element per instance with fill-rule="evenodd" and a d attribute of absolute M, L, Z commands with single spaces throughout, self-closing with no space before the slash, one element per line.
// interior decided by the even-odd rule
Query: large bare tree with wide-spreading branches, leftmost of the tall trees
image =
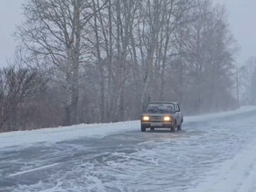
<path fill-rule="evenodd" d="M 90 1 L 84 0 L 31 0 L 24 6 L 26 22 L 18 28 L 25 48 L 64 75 L 68 125 L 77 123 L 79 72 L 87 58 L 82 39 L 96 14 L 92 7 Z"/>

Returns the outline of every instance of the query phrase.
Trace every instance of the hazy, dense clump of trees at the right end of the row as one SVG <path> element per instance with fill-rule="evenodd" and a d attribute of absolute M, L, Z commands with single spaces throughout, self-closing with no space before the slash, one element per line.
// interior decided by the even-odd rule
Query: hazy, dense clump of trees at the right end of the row
<path fill-rule="evenodd" d="M 190 83 L 186 91 L 189 98 L 185 100 L 190 100 L 191 106 L 188 105 L 188 109 L 194 112 L 202 113 L 207 108 L 213 111 L 224 110 L 234 102 L 231 85 L 233 57 L 237 46 L 225 14 L 223 6 L 213 6 L 206 0 L 195 1 L 187 15 L 186 20 L 190 21 L 182 24 L 180 31 L 177 31 L 176 49 L 179 56 L 175 63 L 180 73 L 178 83 L 184 79 L 181 77 L 182 71 L 188 70 L 187 82 Z M 181 89 L 182 85 L 178 87 Z M 183 95 L 183 91 L 180 90 L 178 95 Z"/>

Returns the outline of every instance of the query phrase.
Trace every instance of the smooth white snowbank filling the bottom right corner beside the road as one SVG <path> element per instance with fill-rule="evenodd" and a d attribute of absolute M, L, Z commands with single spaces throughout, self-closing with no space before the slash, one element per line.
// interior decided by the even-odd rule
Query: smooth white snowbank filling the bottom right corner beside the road
<path fill-rule="evenodd" d="M 219 170 L 209 173 L 206 181 L 188 192 L 255 192 L 256 191 L 256 141 L 253 141 L 235 158 L 225 161 Z"/>

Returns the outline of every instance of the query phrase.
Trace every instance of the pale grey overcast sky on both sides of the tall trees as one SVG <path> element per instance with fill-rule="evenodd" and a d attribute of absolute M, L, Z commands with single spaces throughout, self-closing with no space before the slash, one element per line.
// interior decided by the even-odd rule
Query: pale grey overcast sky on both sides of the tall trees
<path fill-rule="evenodd" d="M 0 0 L 0 66 L 12 58 L 15 50 L 13 33 L 22 21 L 21 5 L 25 0 Z M 229 12 L 231 31 L 241 50 L 238 64 L 256 56 L 256 0 L 213 0 L 224 3 Z"/>

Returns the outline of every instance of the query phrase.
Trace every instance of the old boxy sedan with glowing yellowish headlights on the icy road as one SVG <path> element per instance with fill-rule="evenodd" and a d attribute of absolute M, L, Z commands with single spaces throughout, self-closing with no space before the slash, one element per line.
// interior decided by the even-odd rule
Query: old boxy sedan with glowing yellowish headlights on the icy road
<path fill-rule="evenodd" d="M 147 128 L 169 128 L 171 132 L 181 130 L 183 114 L 178 102 L 151 102 L 146 106 L 146 111 L 141 115 L 141 132 Z"/>

